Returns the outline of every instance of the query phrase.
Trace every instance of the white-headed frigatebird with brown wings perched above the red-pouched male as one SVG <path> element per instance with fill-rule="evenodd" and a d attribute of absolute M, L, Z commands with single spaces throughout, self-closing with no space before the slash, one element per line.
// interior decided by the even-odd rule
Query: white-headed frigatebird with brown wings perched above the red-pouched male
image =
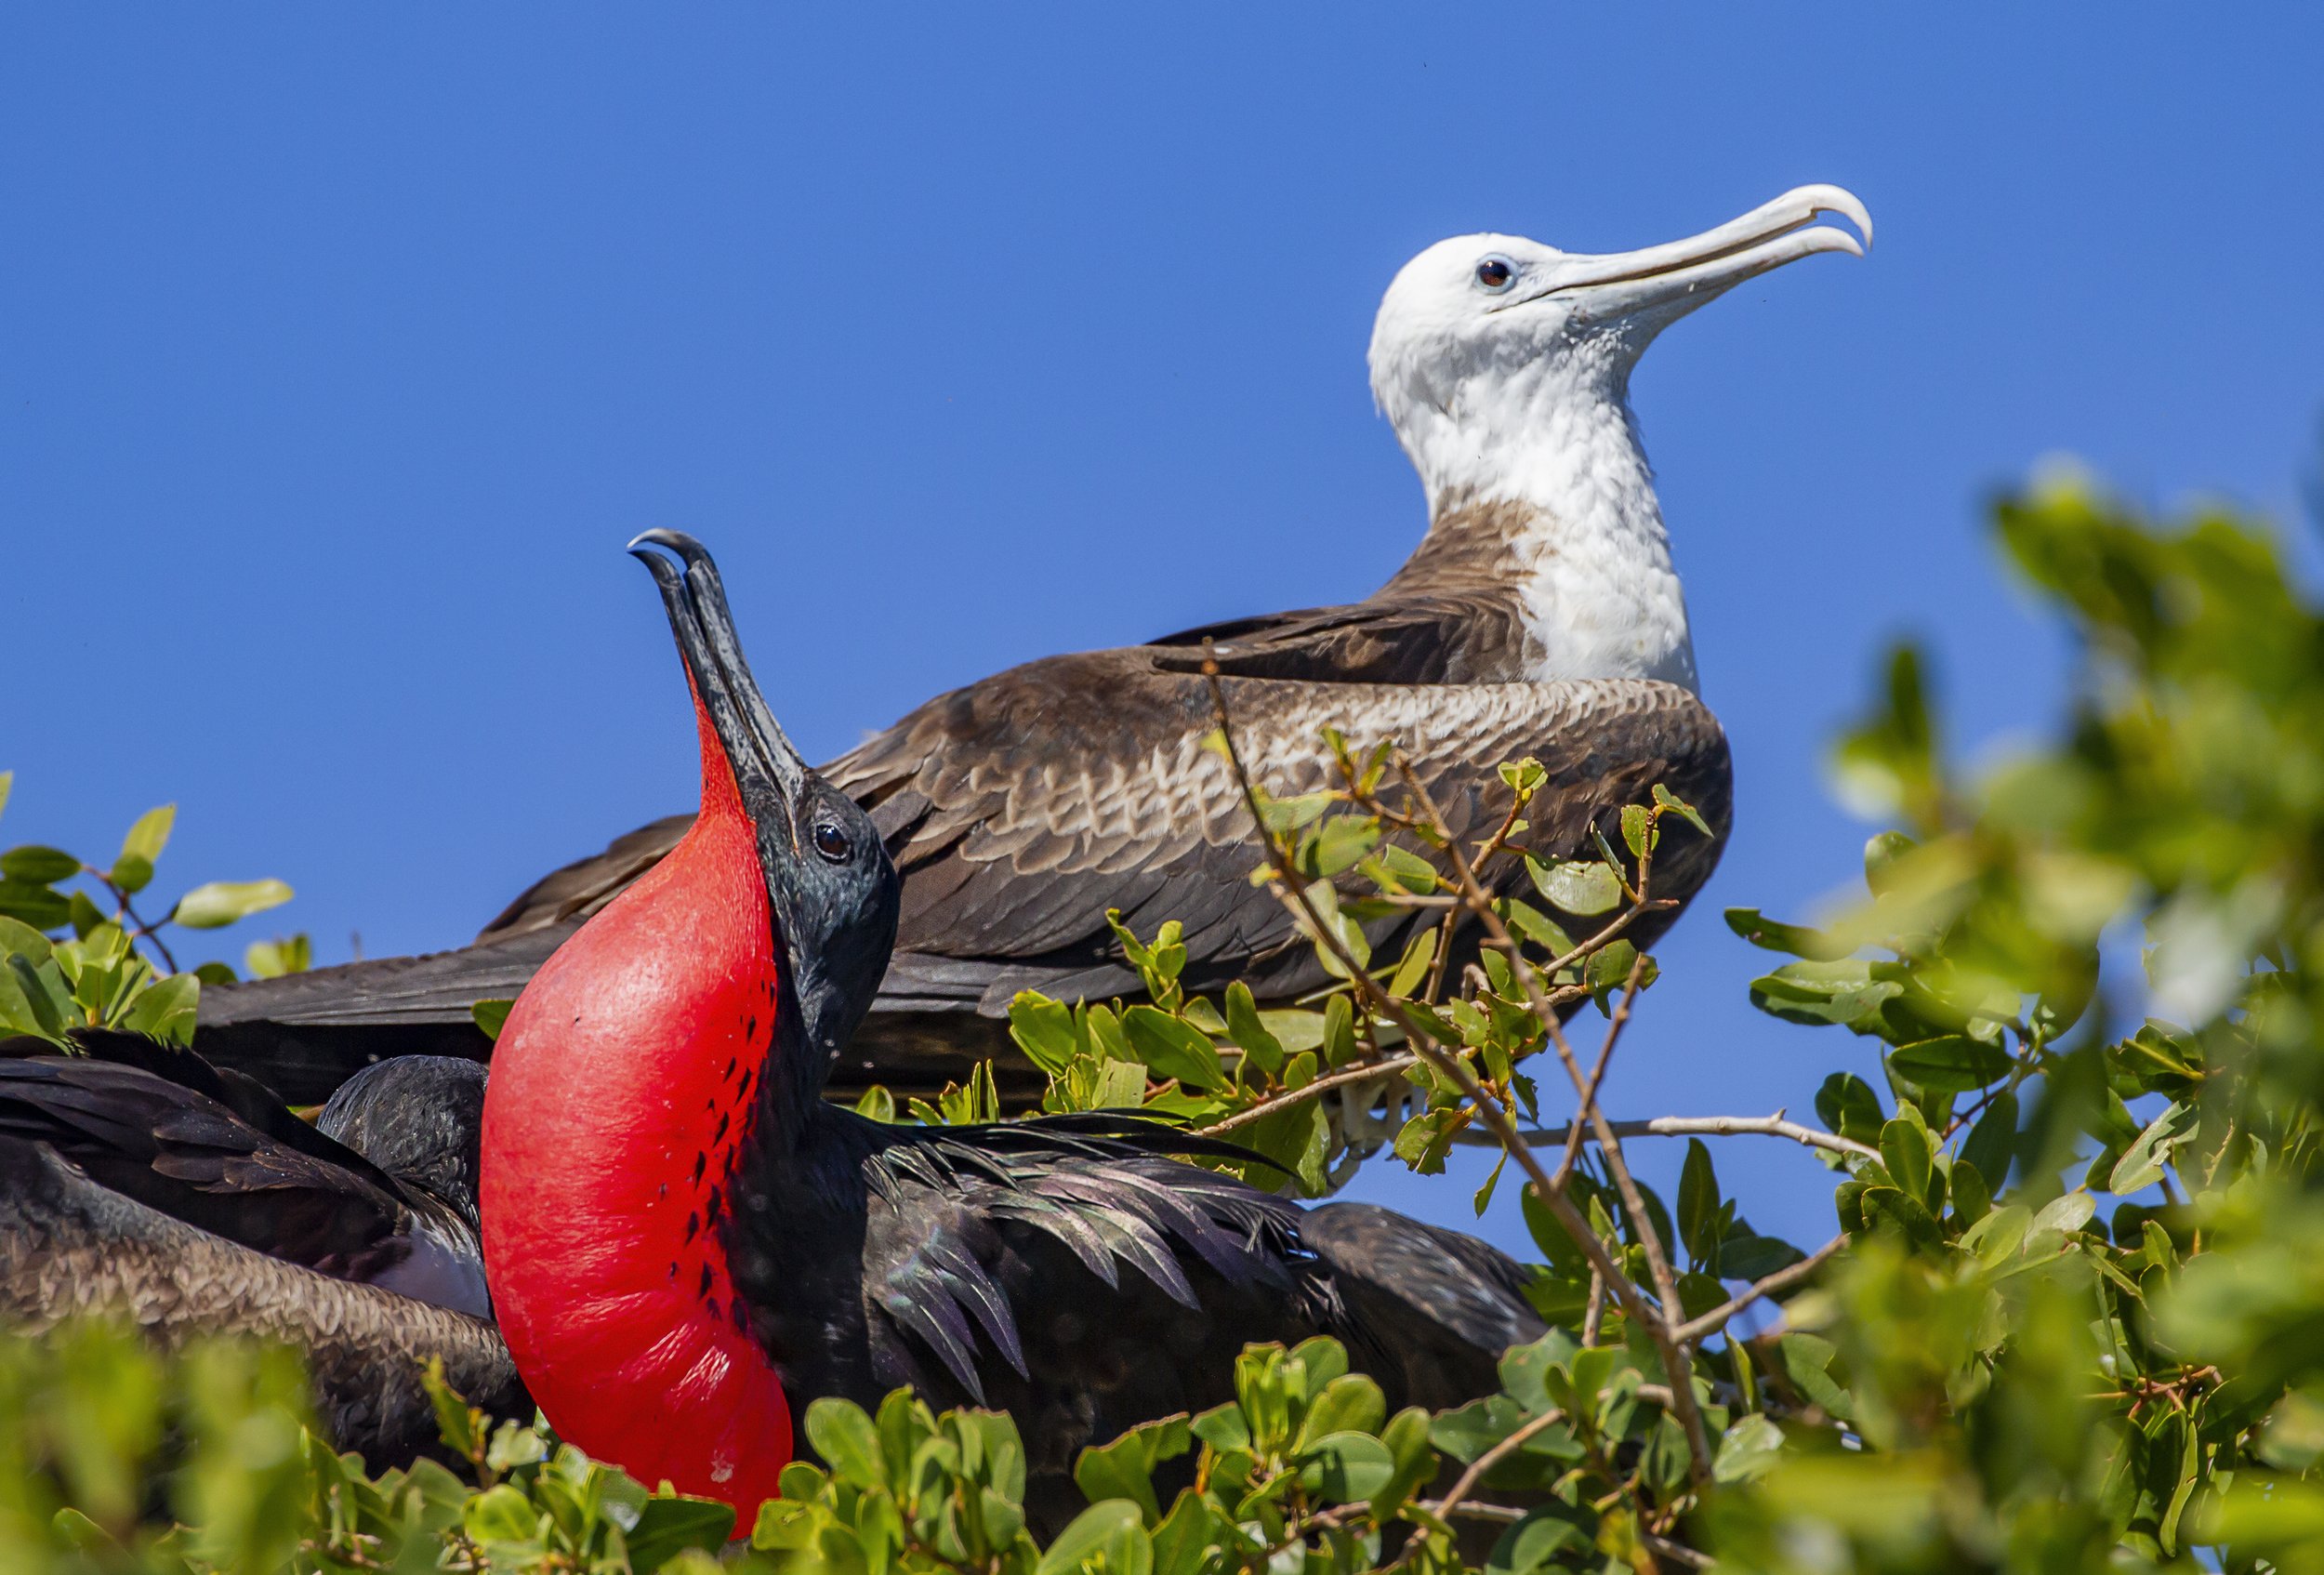
<path fill-rule="evenodd" d="M 1694 239 L 1615 256 L 1511 235 L 1429 246 L 1387 288 L 1371 388 L 1420 472 L 1429 530 L 1371 597 L 1046 657 L 939 695 L 823 767 L 867 808 L 904 871 L 899 941 L 834 1080 L 934 1085 L 1004 1048 L 1018 990 L 1139 990 L 1106 911 L 1139 934 L 1185 925 L 1190 990 L 1243 978 L 1264 1001 L 1325 983 L 1257 862 L 1199 676 L 1225 671 L 1236 732 L 1278 794 L 1325 785 L 1318 743 L 1397 739 L 1455 827 L 1504 760 L 1550 771 L 1541 853 L 1590 848 L 1655 783 L 1724 834 L 1727 739 L 1697 695 L 1685 595 L 1629 411 L 1645 346 L 1724 290 L 1822 251 L 1815 225 L 1864 204 L 1801 186 Z M 514 997 L 590 913 L 667 855 L 676 815 L 518 897 L 479 941 L 202 997 L 202 1048 L 295 1099 L 323 1099 L 379 1055 L 486 1055 L 469 1008 Z M 1655 894 L 1685 901 L 1720 843 L 1676 829 Z M 1652 941 L 1676 911 L 1648 915 Z M 1383 936 L 1392 943 L 1392 936 Z M 1037 1094 L 1032 1069 L 1004 1057 Z"/>

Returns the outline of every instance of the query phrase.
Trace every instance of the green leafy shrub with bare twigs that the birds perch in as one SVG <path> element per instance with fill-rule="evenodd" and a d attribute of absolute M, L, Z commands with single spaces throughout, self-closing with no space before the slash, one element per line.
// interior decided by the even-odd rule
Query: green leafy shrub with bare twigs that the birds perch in
<path fill-rule="evenodd" d="M 1924 662 L 1896 650 L 1836 750 L 1843 792 L 1894 825 L 1862 894 L 1813 925 L 1729 913 L 1780 957 L 1757 1008 L 1845 1057 L 1820 1124 L 1599 1108 L 1655 983 L 1624 929 L 1659 901 L 1662 841 L 1701 829 L 1655 794 L 1594 857 L 1543 857 L 1532 762 L 1504 769 L 1504 818 L 1471 839 L 1392 750 L 1336 739 L 1327 792 L 1250 794 L 1257 880 L 1336 978 L 1301 1011 L 1190 997 L 1174 927 L 1120 936 L 1143 1001 L 1016 1001 L 1048 1108 L 1239 1138 L 1267 1159 L 1239 1166 L 1260 1185 L 1313 1194 L 1378 1148 L 1427 1173 L 1452 1143 L 1501 1145 L 1478 1206 L 1515 1166 L 1555 1331 L 1508 1352 L 1499 1394 L 1390 1417 L 1329 1340 L 1255 1347 L 1232 1405 L 1083 1454 L 1090 1508 L 1046 1547 L 1011 1422 L 825 1398 L 804 1415 L 818 1463 L 725 1542 L 716 1505 L 648 1496 L 451 1396 L 465 1477 L 367 1477 L 311 1438 L 244 1461 L 223 1443 L 237 1429 L 297 1438 L 277 1359 L 172 1366 L 81 1331 L 0 1361 L 0 1552 L 797 1575 L 2324 1570 L 2324 613 L 2266 530 L 2226 513 L 2154 527 L 2047 486 L 1996 525 L 2078 637 L 2068 715 L 1966 774 Z M 1232 736 L 1229 715 L 1229 760 Z M 0 892 L 121 873 L 0 869 Z M 146 932 L 130 894 L 116 915 L 19 911 L 0 932 L 16 990 L 44 966 L 74 987 L 121 966 Z M 1373 955 L 1390 922 L 1408 938 Z M 46 999 L 98 1022 L 160 987 Z M 992 1087 L 911 1115 L 988 1120 Z M 867 1108 L 895 1115 L 881 1092 Z M 1715 1168 L 1741 1136 L 1834 1168 L 1831 1240 L 1803 1252 L 1743 1220 Z M 1673 1199 L 1627 1166 L 1622 1145 L 1650 1138 L 1690 1145 Z M 1771 1329 L 1731 1324 L 1759 1303 L 1780 1306 Z M 1188 1468 L 1192 1487 L 1157 1487 Z"/>

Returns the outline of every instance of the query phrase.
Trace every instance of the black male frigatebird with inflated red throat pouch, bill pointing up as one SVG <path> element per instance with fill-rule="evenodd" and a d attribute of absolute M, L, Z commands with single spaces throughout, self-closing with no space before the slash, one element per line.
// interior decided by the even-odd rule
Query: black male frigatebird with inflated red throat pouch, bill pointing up
<path fill-rule="evenodd" d="M 1492 1387 L 1541 1319 L 1478 1240 L 1304 1210 L 1181 1159 L 1241 1150 L 1136 1117 L 827 1103 L 902 883 L 767 711 L 700 544 L 632 551 L 695 697 L 702 808 L 518 997 L 483 1101 L 493 1306 L 562 1438 L 748 1510 L 811 1398 L 913 1385 L 1016 1417 L 1053 1529 L 1085 1445 L 1229 1398 L 1253 1340 L 1332 1333 L 1390 1405 Z"/>

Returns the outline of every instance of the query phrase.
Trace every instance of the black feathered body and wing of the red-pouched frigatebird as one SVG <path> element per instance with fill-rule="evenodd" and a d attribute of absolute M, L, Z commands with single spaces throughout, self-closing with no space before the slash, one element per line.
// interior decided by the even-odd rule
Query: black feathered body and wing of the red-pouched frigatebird
<path fill-rule="evenodd" d="M 727 1261 L 795 1396 L 869 1405 L 909 1382 L 1009 1410 L 1050 1515 L 1083 1445 L 1232 1398 L 1250 1343 L 1329 1333 L 1392 1405 L 1443 1408 L 1541 1333 L 1492 1247 L 1181 1162 L 1204 1152 L 1248 1159 L 1127 1115 L 927 1129 L 825 1108 L 797 1159 L 737 1175 Z"/>

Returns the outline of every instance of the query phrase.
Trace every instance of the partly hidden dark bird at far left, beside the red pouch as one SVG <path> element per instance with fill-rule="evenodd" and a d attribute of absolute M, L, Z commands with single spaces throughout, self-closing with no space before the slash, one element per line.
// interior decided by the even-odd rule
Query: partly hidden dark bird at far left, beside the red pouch
<path fill-rule="evenodd" d="M 374 1468 L 437 1447 L 428 1357 L 495 1415 L 530 1415 L 479 1257 L 479 1064 L 381 1062 L 309 1127 L 191 1050 L 81 1045 L 0 1043 L 7 1326 L 93 1312 L 165 1343 L 286 1340 L 330 1440 Z"/>

